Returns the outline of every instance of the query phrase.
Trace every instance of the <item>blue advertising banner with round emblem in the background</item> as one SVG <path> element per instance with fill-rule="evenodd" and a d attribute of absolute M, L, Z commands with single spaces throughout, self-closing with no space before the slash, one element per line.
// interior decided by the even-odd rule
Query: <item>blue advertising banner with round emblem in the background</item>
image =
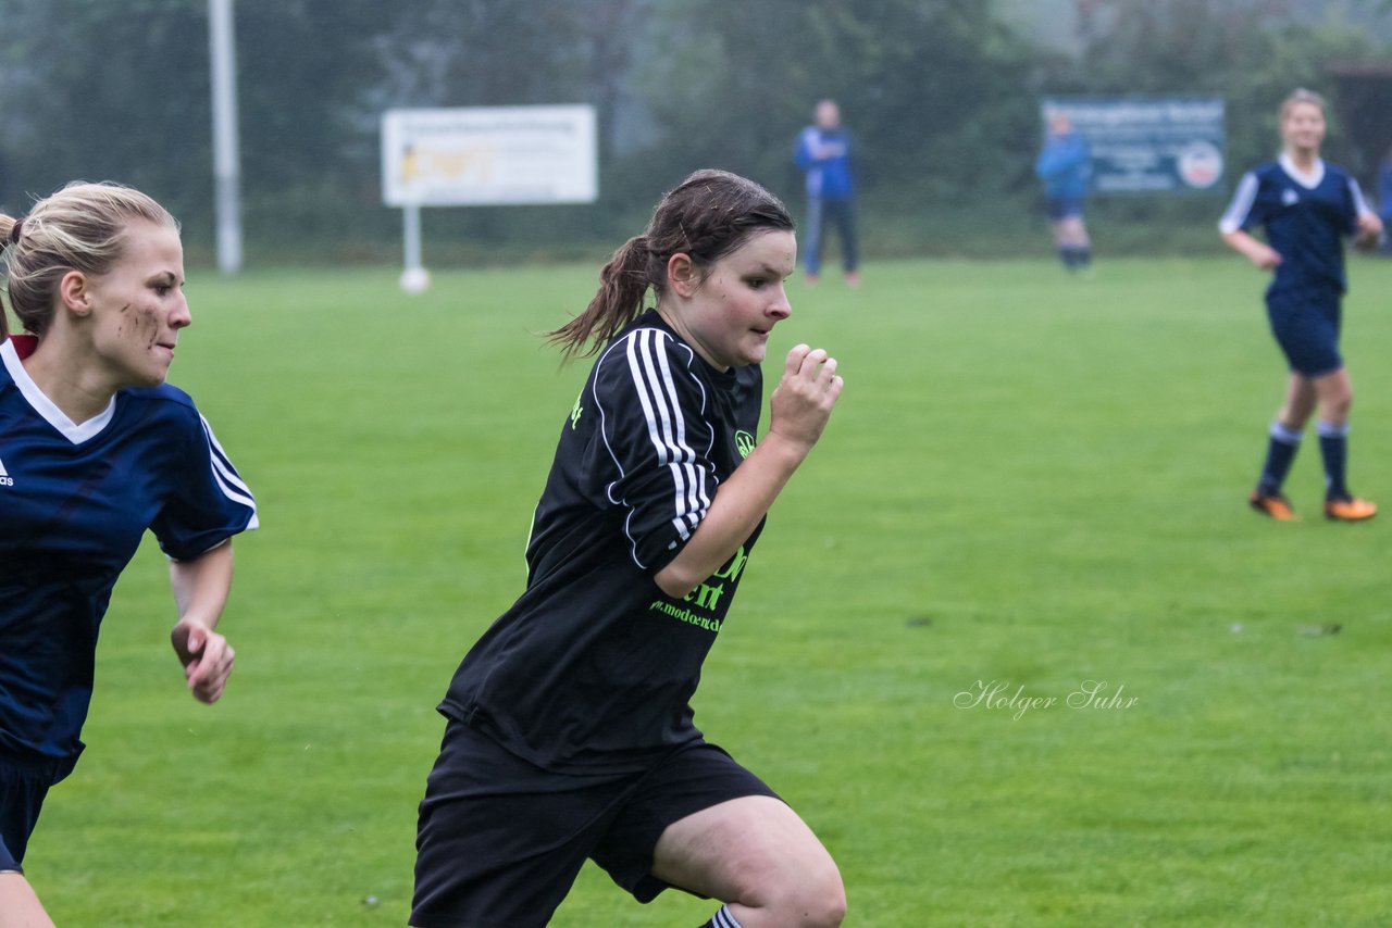
<path fill-rule="evenodd" d="M 1094 193 L 1197 193 L 1224 173 L 1219 97 L 1048 97 L 1093 153 Z"/>

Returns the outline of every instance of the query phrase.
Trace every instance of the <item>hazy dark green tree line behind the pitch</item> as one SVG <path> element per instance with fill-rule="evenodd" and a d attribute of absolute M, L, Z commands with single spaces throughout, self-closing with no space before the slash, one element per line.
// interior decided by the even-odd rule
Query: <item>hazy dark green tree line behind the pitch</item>
<path fill-rule="evenodd" d="M 249 253 L 380 259 L 390 107 L 589 103 L 600 202 L 434 210 L 459 255 L 568 255 L 615 242 L 697 167 L 754 177 L 798 209 L 792 139 L 817 99 L 859 147 L 871 252 L 951 249 L 1026 225 L 1038 102 L 1068 93 L 1215 95 L 1229 173 L 1270 157 L 1293 86 L 1386 43 L 1289 0 L 1076 0 L 1076 42 L 1040 46 L 1002 0 L 238 0 Z M 1368 0 L 1370 15 L 1388 15 Z M 212 241 L 206 0 L 0 0 L 0 202 L 70 178 L 134 184 L 191 246 Z M 1340 154 L 1339 127 L 1329 152 Z M 1356 168 L 1360 166 L 1354 166 Z M 1231 179 L 1235 179 L 1235 174 Z M 1210 221 L 1214 203 L 1133 199 L 1119 218 Z M 951 230 L 951 231 L 949 231 Z M 470 250 L 472 249 L 472 250 Z"/>

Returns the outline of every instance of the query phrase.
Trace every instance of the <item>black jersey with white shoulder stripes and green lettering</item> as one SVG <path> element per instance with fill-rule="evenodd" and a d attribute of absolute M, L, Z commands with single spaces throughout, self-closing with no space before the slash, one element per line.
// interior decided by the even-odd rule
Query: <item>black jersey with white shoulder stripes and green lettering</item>
<path fill-rule="evenodd" d="M 721 373 L 654 312 L 600 353 L 532 522 L 526 591 L 440 711 L 557 771 L 631 771 L 700 737 L 690 696 L 763 522 L 685 600 L 654 583 L 754 445 L 757 365 Z"/>

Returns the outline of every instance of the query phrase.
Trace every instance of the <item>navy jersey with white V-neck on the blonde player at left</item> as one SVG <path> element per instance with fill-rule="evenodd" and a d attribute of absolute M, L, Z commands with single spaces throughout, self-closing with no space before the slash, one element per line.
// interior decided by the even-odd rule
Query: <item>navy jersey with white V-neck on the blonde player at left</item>
<path fill-rule="evenodd" d="M 121 390 L 74 424 L 21 339 L 0 344 L 0 755 L 75 760 L 97 627 L 145 530 L 196 558 L 255 529 L 256 504 L 187 394 Z"/>

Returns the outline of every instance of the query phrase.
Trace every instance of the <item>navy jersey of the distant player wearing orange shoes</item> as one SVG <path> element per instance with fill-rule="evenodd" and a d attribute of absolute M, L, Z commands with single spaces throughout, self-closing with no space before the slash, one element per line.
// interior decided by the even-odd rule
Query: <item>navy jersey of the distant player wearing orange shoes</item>
<path fill-rule="evenodd" d="M 1272 291 L 1313 285 L 1342 294 L 1343 237 L 1367 211 L 1359 182 L 1343 168 L 1318 160 L 1307 175 L 1282 154 L 1242 177 L 1218 228 L 1265 228 L 1267 243 L 1281 255 Z"/>

